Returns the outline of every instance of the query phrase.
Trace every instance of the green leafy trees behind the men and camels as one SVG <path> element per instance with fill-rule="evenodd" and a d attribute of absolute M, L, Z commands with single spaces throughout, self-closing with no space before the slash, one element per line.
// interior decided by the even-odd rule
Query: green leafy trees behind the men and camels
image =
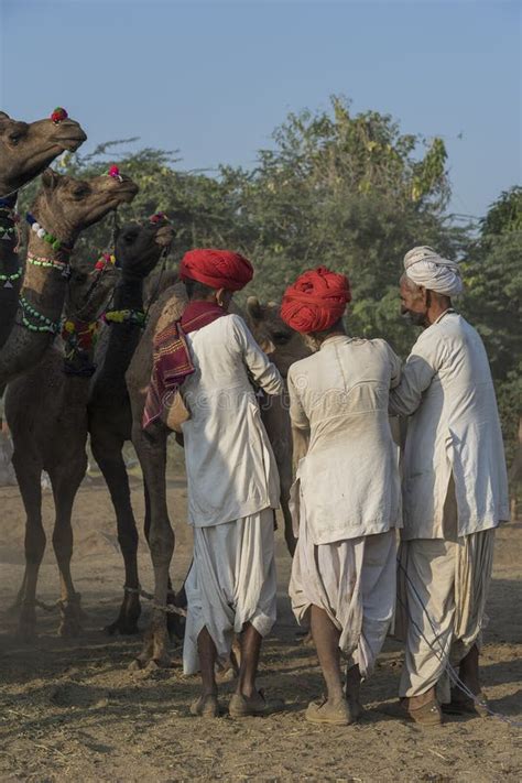
<path fill-rule="evenodd" d="M 402 258 L 429 244 L 463 259 L 466 294 L 459 307 L 482 335 L 491 361 L 504 434 L 516 438 L 521 350 L 515 328 L 521 300 L 522 188 L 502 193 L 479 236 L 446 214 L 450 195 L 442 139 L 404 134 L 388 115 L 352 113 L 333 97 L 328 110 L 290 113 L 252 170 L 183 171 L 176 152 L 129 153 L 122 140 L 89 155 L 65 153 L 62 173 L 88 177 L 117 162 L 140 186 L 119 219 L 164 211 L 176 237 L 170 263 L 194 247 L 239 250 L 252 259 L 249 293 L 279 300 L 284 287 L 319 264 L 348 274 L 349 329 L 387 338 L 405 356 L 414 339 L 399 316 Z M 22 207 L 36 185 L 23 193 Z M 75 252 L 96 260 L 111 242 L 111 219 L 86 231 Z"/>

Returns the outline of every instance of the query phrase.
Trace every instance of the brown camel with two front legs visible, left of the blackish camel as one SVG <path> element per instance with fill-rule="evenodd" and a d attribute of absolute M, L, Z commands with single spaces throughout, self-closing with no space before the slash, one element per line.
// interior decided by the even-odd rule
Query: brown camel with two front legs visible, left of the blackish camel
<path fill-rule="evenodd" d="M 11 429 L 12 457 L 26 512 L 25 574 L 17 599 L 18 633 L 30 641 L 36 623 L 36 583 L 45 550 L 42 524 L 42 470 L 53 489 L 53 547 L 59 570 L 61 635 L 80 628 L 80 597 L 70 575 L 73 503 L 87 469 L 87 398 L 94 371 L 97 320 L 116 283 L 117 271 L 75 268 L 65 302 L 63 346 L 45 351 L 36 367 L 8 385 L 6 414 Z"/>

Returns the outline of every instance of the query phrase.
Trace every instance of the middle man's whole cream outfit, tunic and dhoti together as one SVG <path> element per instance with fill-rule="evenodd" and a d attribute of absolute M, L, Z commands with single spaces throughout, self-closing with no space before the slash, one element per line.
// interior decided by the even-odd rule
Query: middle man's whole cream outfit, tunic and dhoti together
<path fill-rule="evenodd" d="M 399 374 L 383 340 L 344 336 L 289 373 L 292 424 L 309 433 L 292 489 L 292 608 L 298 621 L 323 609 L 363 677 L 393 617 L 400 482 L 388 395 Z"/>

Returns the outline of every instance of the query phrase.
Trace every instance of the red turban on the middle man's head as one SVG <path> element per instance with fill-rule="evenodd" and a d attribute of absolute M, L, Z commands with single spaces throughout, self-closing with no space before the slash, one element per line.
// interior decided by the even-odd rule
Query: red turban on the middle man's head
<path fill-rule="evenodd" d="M 295 331 L 324 331 L 339 320 L 350 301 L 348 278 L 319 267 L 286 289 L 281 317 Z"/>

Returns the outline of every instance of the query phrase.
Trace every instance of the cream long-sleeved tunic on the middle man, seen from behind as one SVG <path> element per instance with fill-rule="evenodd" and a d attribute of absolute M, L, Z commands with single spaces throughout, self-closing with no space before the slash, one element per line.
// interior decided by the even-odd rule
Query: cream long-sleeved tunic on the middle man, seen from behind
<path fill-rule="evenodd" d="M 400 368 L 384 340 L 346 336 L 329 338 L 290 368 L 292 424 L 309 429 L 293 498 L 305 507 L 314 544 L 401 524 L 398 449 L 388 415 Z"/>

